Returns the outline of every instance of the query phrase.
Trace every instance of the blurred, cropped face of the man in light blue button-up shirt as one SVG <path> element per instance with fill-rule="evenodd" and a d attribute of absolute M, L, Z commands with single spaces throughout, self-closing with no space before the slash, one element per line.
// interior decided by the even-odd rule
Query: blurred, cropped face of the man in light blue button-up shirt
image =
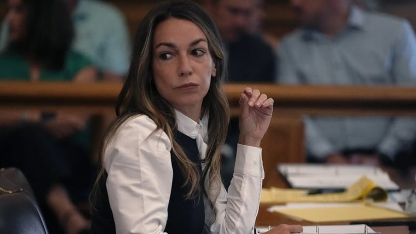
<path fill-rule="evenodd" d="M 324 18 L 328 2 L 327 0 L 290 0 L 290 4 L 302 26 L 316 27 Z"/>

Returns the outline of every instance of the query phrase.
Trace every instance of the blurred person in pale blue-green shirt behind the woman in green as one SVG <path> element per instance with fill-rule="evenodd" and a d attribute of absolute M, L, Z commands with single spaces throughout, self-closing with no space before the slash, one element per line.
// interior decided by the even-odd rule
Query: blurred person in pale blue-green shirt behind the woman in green
<path fill-rule="evenodd" d="M 98 70 L 98 79 L 123 81 L 130 59 L 130 34 L 123 14 L 98 0 L 63 0 L 75 27 L 72 48 L 86 55 Z M 0 29 L 0 51 L 7 45 L 8 25 Z"/>

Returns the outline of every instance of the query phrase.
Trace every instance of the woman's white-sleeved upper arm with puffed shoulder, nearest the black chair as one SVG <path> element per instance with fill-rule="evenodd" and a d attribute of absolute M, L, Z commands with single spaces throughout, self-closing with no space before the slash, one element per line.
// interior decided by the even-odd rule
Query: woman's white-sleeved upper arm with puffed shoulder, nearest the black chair
<path fill-rule="evenodd" d="M 161 234 L 172 186 L 171 143 L 147 116 L 133 117 L 106 146 L 106 187 L 117 234 Z"/>

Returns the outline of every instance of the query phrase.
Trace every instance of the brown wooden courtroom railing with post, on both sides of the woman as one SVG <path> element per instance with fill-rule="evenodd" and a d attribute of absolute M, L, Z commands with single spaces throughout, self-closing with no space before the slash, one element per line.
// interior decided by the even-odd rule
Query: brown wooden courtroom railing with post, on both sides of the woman
<path fill-rule="evenodd" d="M 304 162 L 302 116 L 308 115 L 416 115 L 416 88 L 318 87 L 274 84 L 227 84 L 232 115 L 246 86 L 274 99 L 274 113 L 262 141 L 264 187 L 275 185 L 276 165 Z M 90 114 L 114 113 L 121 85 L 115 83 L 0 82 L 0 113 L 5 110 L 66 110 Z"/>

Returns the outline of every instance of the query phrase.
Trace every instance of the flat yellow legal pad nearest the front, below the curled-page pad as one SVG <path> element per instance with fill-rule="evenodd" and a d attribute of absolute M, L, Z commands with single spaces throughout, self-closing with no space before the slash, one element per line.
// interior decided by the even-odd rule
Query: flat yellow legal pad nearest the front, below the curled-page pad
<path fill-rule="evenodd" d="M 410 215 L 403 212 L 364 204 L 323 208 L 294 208 L 279 210 L 277 212 L 314 223 L 362 221 L 375 219 L 400 219 L 411 217 Z"/>

